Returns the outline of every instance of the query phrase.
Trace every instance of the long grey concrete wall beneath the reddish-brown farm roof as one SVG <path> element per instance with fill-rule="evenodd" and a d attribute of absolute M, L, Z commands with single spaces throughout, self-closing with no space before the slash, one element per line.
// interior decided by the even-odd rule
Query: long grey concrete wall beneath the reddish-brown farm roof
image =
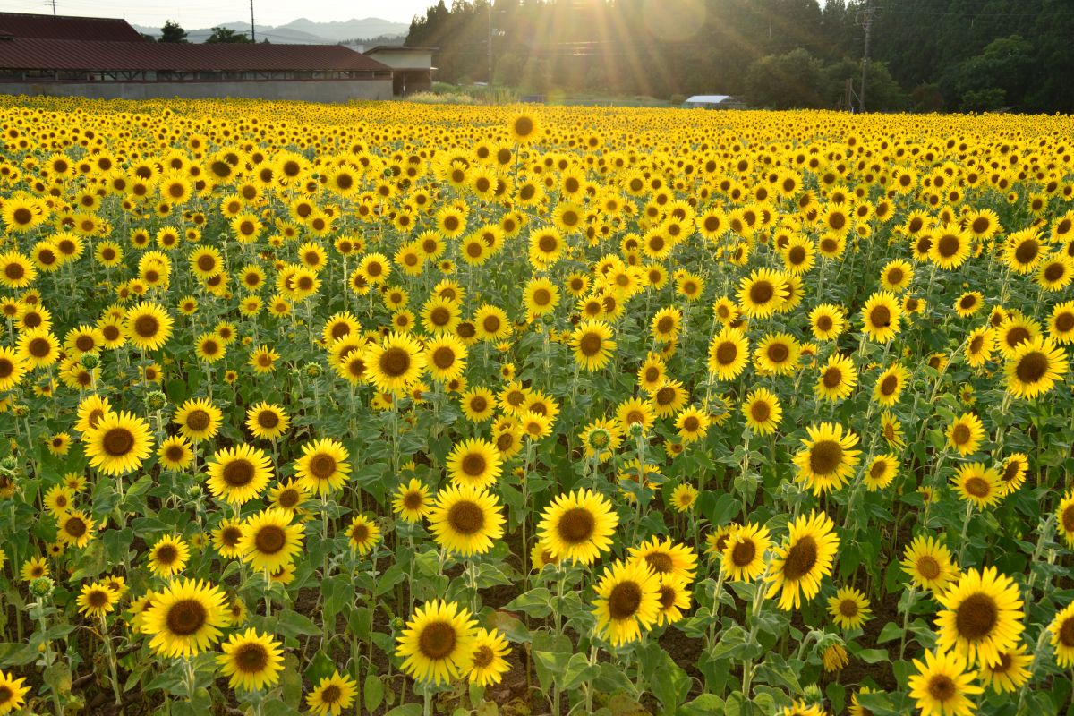
<path fill-rule="evenodd" d="M 88 97 L 93 100 L 146 100 L 151 98 L 248 98 L 346 102 L 390 100 L 391 79 L 303 79 L 266 82 L 101 82 L 0 83 L 0 94 L 33 97 Z"/>

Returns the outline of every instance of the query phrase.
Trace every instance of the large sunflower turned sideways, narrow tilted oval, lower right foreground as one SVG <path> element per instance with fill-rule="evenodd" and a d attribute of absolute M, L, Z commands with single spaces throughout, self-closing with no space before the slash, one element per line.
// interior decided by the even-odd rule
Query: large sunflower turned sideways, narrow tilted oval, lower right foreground
<path fill-rule="evenodd" d="M 821 580 L 831 573 L 831 562 L 839 550 L 834 525 L 824 512 L 810 512 L 790 523 L 786 546 L 774 549 L 768 597 L 780 595 L 780 609 L 790 611 L 821 590 Z"/>

